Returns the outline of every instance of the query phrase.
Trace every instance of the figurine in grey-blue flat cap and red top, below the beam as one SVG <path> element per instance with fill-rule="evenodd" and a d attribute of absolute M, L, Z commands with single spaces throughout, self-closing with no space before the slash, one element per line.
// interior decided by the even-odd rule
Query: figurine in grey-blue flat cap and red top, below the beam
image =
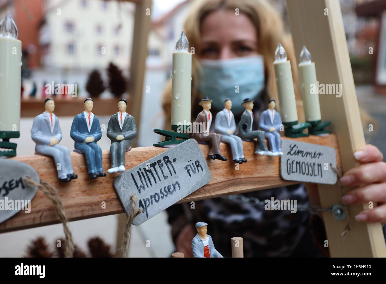
<path fill-rule="evenodd" d="M 212 237 L 207 235 L 205 222 L 197 222 L 197 235 L 192 240 L 193 257 L 223 257 L 213 245 Z"/>

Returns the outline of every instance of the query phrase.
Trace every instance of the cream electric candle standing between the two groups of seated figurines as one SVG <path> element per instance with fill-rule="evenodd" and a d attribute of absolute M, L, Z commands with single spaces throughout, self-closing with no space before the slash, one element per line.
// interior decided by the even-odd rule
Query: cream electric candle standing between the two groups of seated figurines
<path fill-rule="evenodd" d="M 179 125 L 190 125 L 192 54 L 184 32 L 181 32 L 173 53 L 171 74 L 171 125 L 177 130 Z"/>

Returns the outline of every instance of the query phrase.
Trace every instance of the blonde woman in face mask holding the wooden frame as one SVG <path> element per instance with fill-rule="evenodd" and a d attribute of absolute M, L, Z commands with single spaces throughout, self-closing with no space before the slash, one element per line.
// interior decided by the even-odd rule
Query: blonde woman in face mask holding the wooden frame
<path fill-rule="evenodd" d="M 267 108 L 269 99 L 277 98 L 273 70 L 275 49 L 280 42 L 287 51 L 292 66 L 296 66 L 291 39 L 285 34 L 283 23 L 266 0 L 198 0 L 190 7 L 184 32 L 190 46 L 194 47 L 192 69 L 192 121 L 200 110 L 198 101 L 205 96 L 213 100 L 212 113 L 223 109 L 224 97 L 232 100 L 236 122 L 244 109 L 243 99 L 254 100 L 254 128 L 260 114 Z M 251 75 L 252 74 L 252 75 Z M 301 96 L 298 75 L 293 68 L 298 107 Z M 240 93 L 235 92 L 239 86 Z M 171 82 L 164 90 L 163 107 L 166 125 L 170 125 Z M 303 114 L 300 110 L 298 113 Z M 302 121 L 300 117 L 300 121 Z M 212 126 L 215 123 L 212 121 Z M 167 129 L 167 128 L 166 128 Z M 386 201 L 386 164 L 382 153 L 367 145 L 355 153 L 363 163 L 345 174 L 343 185 L 367 184 L 342 198 L 345 204 L 366 203 L 367 200 Z M 380 183 L 383 182 L 383 183 Z M 316 190 L 310 191 L 310 200 L 317 201 Z M 224 257 L 231 255 L 230 238 L 242 236 L 245 257 L 322 256 L 326 239 L 320 219 L 310 223 L 310 213 L 298 211 L 266 211 L 264 206 L 253 204 L 259 199 L 296 199 L 298 206 L 310 204 L 303 184 L 261 190 L 236 196 L 237 199 L 217 198 L 168 209 L 169 223 L 176 251 L 191 256 L 191 240 L 195 236 L 194 224 L 205 221 L 217 250 Z M 357 221 L 386 221 L 386 205 L 366 211 Z M 317 245 L 310 230 L 317 236 Z M 326 249 L 325 249 L 326 250 Z M 325 255 L 328 252 L 323 252 Z"/>

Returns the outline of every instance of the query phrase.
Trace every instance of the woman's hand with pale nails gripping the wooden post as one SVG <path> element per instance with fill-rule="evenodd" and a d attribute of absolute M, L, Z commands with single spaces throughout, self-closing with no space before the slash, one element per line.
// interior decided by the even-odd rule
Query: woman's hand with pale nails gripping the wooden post
<path fill-rule="evenodd" d="M 343 186 L 358 186 L 342 197 L 342 203 L 370 204 L 373 209 L 366 209 L 355 216 L 357 221 L 386 223 L 386 163 L 383 154 L 373 145 L 366 145 L 354 153 L 361 163 L 352 168 L 340 179 Z M 379 206 L 377 206 L 377 204 Z"/>

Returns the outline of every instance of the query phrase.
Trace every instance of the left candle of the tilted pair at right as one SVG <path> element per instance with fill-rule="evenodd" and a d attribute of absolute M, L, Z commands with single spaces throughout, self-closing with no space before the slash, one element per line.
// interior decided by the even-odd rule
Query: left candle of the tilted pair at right
<path fill-rule="evenodd" d="M 287 53 L 279 43 L 275 52 L 276 86 L 278 87 L 281 120 L 284 123 L 297 122 L 295 91 L 291 71 L 291 62 L 287 60 Z"/>

